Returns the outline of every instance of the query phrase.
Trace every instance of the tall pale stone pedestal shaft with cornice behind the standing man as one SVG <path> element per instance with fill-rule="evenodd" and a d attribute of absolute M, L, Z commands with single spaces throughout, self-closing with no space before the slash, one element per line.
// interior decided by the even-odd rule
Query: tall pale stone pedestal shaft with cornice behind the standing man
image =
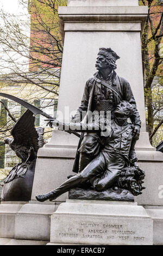
<path fill-rule="evenodd" d="M 70 112 L 77 110 L 86 80 L 97 71 L 99 47 L 111 47 L 121 57 L 116 62 L 116 72 L 129 81 L 141 116 L 142 132 L 146 132 L 140 35 L 148 8 L 138 6 L 138 1 L 99 2 L 103 4 L 70 1 L 67 7 L 59 7 L 64 53 L 58 111 L 65 113 L 65 106 Z M 66 121 L 68 117 L 65 116 Z"/>

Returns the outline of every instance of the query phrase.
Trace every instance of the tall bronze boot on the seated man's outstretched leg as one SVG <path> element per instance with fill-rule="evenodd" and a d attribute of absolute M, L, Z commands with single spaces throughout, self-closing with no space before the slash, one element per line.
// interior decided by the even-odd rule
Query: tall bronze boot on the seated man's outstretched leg
<path fill-rule="evenodd" d="M 76 187 L 80 182 L 82 182 L 84 178 L 82 175 L 77 174 L 71 178 L 69 178 L 67 181 L 62 183 L 58 188 L 55 188 L 53 191 L 47 193 L 47 194 L 41 194 L 41 195 L 36 195 L 37 201 L 43 202 L 46 200 L 54 200 L 58 198 L 60 195 L 64 194 L 68 190 L 70 190 L 73 187 Z"/>

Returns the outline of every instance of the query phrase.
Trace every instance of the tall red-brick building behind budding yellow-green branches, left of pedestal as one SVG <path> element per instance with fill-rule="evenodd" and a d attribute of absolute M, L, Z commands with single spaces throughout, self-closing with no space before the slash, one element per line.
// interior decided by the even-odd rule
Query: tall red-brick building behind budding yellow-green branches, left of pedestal
<path fill-rule="evenodd" d="M 66 3 L 65 0 L 30 1 L 30 70 L 61 67 L 58 6 Z"/>

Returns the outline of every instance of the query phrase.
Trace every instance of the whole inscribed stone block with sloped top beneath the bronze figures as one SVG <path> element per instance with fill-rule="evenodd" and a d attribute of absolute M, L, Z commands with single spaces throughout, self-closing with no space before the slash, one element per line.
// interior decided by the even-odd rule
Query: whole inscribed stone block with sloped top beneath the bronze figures
<path fill-rule="evenodd" d="M 51 217 L 51 243 L 153 245 L 153 221 L 136 203 L 67 200 Z"/>

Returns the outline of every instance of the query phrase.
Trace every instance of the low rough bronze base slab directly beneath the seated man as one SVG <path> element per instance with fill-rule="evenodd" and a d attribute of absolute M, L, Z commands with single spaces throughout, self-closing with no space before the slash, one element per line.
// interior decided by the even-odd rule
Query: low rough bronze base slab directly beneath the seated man
<path fill-rule="evenodd" d="M 112 188 L 98 192 L 91 188 L 72 188 L 68 194 L 69 199 L 78 200 L 108 200 L 108 201 L 134 201 L 134 196 L 128 190 Z"/>

